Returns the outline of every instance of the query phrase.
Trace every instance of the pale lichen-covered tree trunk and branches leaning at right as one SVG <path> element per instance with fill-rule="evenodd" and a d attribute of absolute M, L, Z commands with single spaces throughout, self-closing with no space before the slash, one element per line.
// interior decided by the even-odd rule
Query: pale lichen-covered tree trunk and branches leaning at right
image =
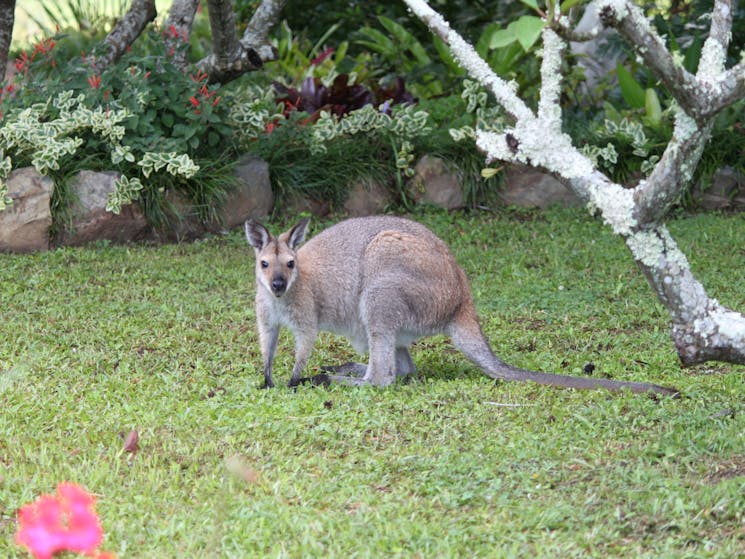
<path fill-rule="evenodd" d="M 404 0 L 448 45 L 455 59 L 494 94 L 514 118 L 503 133 L 478 132 L 476 144 L 488 160 L 542 167 L 561 178 L 593 213 L 621 235 L 660 301 L 670 312 L 672 337 L 684 365 L 708 360 L 745 364 L 745 317 L 710 298 L 688 260 L 662 223 L 688 185 L 709 138 L 714 117 L 745 96 L 745 62 L 727 70 L 733 0 L 716 0 L 702 63 L 694 76 L 675 62 L 641 9 L 630 0 L 597 0 L 606 25 L 634 47 L 678 103 L 667 149 L 656 168 L 634 188 L 613 183 L 561 132 L 559 85 L 563 37 L 576 38 L 566 21 L 547 22 L 538 111 L 492 72 L 475 50 L 424 0 Z"/>

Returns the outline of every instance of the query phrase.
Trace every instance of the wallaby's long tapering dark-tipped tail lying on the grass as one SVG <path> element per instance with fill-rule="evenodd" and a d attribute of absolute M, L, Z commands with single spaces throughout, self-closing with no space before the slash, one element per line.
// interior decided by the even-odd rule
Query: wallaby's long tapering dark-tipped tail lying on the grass
<path fill-rule="evenodd" d="M 491 350 L 484 334 L 481 332 L 481 327 L 479 326 L 478 321 L 475 319 L 475 313 L 473 313 L 473 318 L 468 316 L 464 317 L 463 314 L 468 315 L 470 313 L 462 313 L 460 319 L 456 319 L 450 327 L 449 333 L 453 340 L 453 344 L 493 379 L 516 381 L 528 380 L 538 384 L 585 390 L 606 388 L 614 391 L 631 390 L 632 392 L 642 394 L 664 394 L 674 398 L 680 396 L 680 393 L 675 388 L 668 388 L 646 382 L 572 377 L 553 373 L 539 373 L 537 371 L 513 367 L 494 355 L 494 352 Z"/>

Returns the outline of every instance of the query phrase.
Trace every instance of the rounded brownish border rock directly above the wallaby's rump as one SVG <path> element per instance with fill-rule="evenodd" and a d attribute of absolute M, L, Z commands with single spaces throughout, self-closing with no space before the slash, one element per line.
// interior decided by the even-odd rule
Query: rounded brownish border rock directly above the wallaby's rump
<path fill-rule="evenodd" d="M 423 156 L 414 167 L 414 173 L 407 189 L 417 203 L 433 204 L 447 210 L 465 206 L 460 177 L 439 157 Z"/>

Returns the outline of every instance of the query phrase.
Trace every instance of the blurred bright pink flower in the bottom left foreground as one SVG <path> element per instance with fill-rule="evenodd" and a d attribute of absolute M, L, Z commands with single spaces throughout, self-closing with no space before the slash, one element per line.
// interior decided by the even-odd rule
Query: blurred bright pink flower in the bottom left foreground
<path fill-rule="evenodd" d="M 98 556 L 103 530 L 95 502 L 79 485 L 60 483 L 56 495 L 42 495 L 18 511 L 16 543 L 36 559 L 51 559 L 58 551 Z"/>

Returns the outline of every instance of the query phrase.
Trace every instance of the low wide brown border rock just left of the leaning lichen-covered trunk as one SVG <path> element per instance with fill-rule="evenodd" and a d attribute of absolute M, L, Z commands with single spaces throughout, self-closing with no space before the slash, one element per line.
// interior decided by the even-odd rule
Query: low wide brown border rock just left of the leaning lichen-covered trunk
<path fill-rule="evenodd" d="M 545 209 L 553 205 L 577 206 L 579 198 L 551 175 L 525 166 L 507 169 L 497 194 L 508 206 Z"/>

